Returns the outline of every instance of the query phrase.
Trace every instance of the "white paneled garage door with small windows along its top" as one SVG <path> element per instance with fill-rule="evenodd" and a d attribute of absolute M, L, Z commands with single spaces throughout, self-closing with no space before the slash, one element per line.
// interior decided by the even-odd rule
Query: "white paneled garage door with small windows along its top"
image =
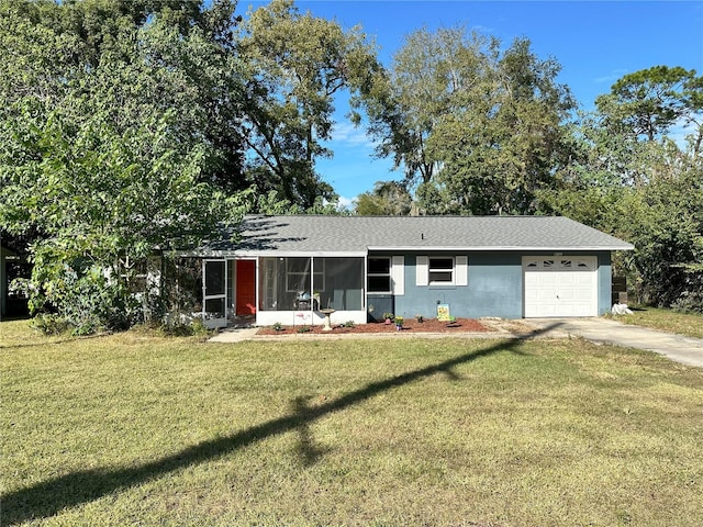
<path fill-rule="evenodd" d="M 525 256 L 525 317 L 596 316 L 594 256 Z"/>

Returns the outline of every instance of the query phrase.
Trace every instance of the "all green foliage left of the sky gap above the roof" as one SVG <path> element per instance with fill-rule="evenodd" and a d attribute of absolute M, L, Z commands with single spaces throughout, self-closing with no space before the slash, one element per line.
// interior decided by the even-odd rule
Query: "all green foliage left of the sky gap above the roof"
<path fill-rule="evenodd" d="M 234 9 L 0 4 L 0 228 L 29 237 L 35 312 L 58 310 L 80 332 L 121 326 L 105 313 L 133 299 L 130 321 L 177 313 L 181 299 L 140 278 L 150 255 L 169 267 L 247 211 L 339 212 L 314 160 L 330 155 L 335 93 L 366 89 L 372 47 L 292 2 L 249 13 L 242 31 Z M 109 271 L 93 319 L 49 294 L 65 269 L 85 294 L 99 285 L 85 269 Z"/>

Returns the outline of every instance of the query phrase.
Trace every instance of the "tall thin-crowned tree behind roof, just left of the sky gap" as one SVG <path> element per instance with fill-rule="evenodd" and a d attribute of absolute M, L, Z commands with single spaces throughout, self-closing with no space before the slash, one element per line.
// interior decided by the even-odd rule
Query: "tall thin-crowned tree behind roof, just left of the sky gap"
<path fill-rule="evenodd" d="M 274 0 L 243 25 L 249 65 L 244 138 L 247 170 L 259 192 L 303 208 L 333 199 L 315 160 L 331 157 L 335 97 L 368 90 L 380 70 L 375 48 L 358 27 L 301 14 L 290 0 Z"/>

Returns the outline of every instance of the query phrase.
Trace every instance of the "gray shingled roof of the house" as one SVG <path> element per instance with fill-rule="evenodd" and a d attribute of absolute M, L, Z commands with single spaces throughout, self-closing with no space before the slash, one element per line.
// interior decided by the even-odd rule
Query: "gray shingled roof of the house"
<path fill-rule="evenodd" d="M 199 254 L 366 254 L 388 250 L 629 250 L 563 216 L 246 216 L 238 244 Z"/>

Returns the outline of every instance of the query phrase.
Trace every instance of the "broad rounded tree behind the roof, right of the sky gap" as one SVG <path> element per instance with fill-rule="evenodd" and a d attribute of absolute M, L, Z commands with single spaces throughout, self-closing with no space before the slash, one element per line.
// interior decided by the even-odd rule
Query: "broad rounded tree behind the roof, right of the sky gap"
<path fill-rule="evenodd" d="M 427 213 L 524 214 L 569 158 L 573 101 L 559 65 L 529 42 L 501 49 L 461 27 L 413 33 L 368 103 L 379 155 L 392 155 Z"/>

